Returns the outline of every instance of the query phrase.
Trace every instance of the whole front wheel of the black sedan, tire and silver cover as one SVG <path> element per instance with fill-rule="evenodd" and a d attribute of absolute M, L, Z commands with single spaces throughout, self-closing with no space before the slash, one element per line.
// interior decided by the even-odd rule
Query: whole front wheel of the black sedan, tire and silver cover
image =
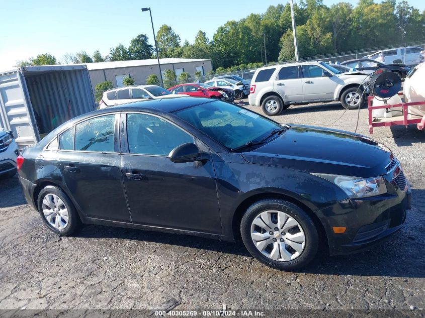
<path fill-rule="evenodd" d="M 280 219 L 273 215 L 279 215 Z M 265 224 L 260 217 L 267 218 L 266 222 L 273 223 L 275 228 Z M 279 270 L 290 271 L 306 266 L 318 250 L 318 232 L 311 218 L 297 205 L 281 199 L 264 199 L 248 207 L 240 223 L 240 233 L 254 258 Z M 254 238 L 258 239 L 256 243 Z"/>

